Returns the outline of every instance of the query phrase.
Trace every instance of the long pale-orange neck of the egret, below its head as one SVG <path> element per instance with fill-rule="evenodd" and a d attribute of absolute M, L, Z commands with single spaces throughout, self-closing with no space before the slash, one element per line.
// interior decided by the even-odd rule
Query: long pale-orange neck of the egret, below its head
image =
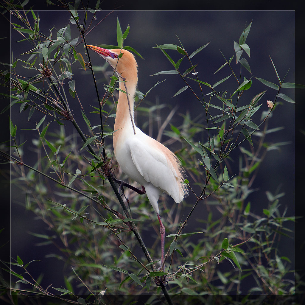
<path fill-rule="evenodd" d="M 125 87 L 126 85 L 126 87 Z M 119 99 L 117 103 L 117 114 L 114 122 L 114 130 L 117 130 L 113 136 L 113 145 L 116 145 L 122 132 L 126 131 L 129 133 L 134 133 L 133 127 L 135 127 L 134 122 L 134 95 L 135 86 L 132 82 L 120 81 L 120 89 L 127 92 L 119 92 Z M 126 90 L 127 88 L 127 90 Z M 127 98 L 128 96 L 128 98 Z M 127 130 L 128 129 L 128 130 Z"/>

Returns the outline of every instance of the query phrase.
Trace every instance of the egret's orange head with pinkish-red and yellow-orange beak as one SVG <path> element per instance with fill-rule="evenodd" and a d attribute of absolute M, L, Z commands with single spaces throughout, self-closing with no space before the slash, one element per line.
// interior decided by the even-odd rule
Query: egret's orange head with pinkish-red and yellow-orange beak
<path fill-rule="evenodd" d="M 131 52 L 124 49 L 108 50 L 94 45 L 87 45 L 87 47 L 102 56 L 118 75 L 124 77 L 128 82 L 131 81 L 136 87 L 138 83 L 138 64 Z M 120 53 L 123 53 L 123 55 L 119 58 Z"/>

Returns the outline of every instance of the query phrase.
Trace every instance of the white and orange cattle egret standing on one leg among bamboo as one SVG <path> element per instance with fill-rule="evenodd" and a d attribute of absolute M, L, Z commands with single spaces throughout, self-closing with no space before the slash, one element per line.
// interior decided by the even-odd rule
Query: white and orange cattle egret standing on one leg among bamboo
<path fill-rule="evenodd" d="M 130 187 L 139 194 L 147 195 L 160 222 L 161 234 L 161 266 L 164 261 L 165 228 L 162 224 L 158 199 L 161 193 L 170 195 L 176 203 L 180 203 L 188 194 L 183 183 L 184 171 L 178 158 L 164 145 L 142 132 L 134 122 L 134 95 L 138 83 L 138 65 L 135 56 L 124 49 L 104 49 L 88 45 L 98 53 L 115 70 L 119 77 L 120 89 L 117 103 L 117 114 L 114 123 L 113 149 L 121 170 L 132 180 L 142 185 L 142 190 Z M 123 53 L 122 56 L 119 56 Z"/>

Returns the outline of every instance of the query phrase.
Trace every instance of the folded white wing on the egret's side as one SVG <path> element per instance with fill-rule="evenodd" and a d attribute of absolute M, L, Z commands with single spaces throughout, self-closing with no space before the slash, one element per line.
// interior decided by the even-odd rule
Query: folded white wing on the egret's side
<path fill-rule="evenodd" d="M 180 202 L 183 197 L 181 198 L 178 174 L 162 151 L 155 148 L 154 141 L 156 140 L 149 137 L 130 139 L 128 144 L 131 158 L 145 181 L 172 196 L 176 202 Z"/>

